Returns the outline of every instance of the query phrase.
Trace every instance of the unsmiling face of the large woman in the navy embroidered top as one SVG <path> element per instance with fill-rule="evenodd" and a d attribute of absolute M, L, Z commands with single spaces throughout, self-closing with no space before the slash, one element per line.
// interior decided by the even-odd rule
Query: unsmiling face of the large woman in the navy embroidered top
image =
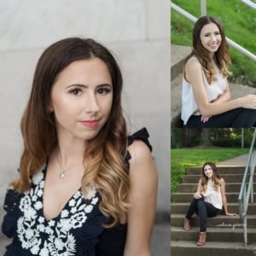
<path fill-rule="evenodd" d="M 107 122 L 113 84 L 99 58 L 74 61 L 57 76 L 50 95 L 58 136 L 89 140 Z"/>

